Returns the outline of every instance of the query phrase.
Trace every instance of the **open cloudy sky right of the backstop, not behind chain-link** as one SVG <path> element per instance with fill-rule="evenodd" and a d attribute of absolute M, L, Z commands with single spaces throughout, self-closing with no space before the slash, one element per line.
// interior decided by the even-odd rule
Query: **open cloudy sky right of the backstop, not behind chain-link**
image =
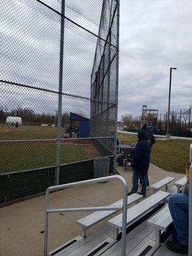
<path fill-rule="evenodd" d="M 143 104 L 165 112 L 170 67 L 171 108 L 192 104 L 192 1 L 120 1 L 118 118 L 141 114 Z"/>

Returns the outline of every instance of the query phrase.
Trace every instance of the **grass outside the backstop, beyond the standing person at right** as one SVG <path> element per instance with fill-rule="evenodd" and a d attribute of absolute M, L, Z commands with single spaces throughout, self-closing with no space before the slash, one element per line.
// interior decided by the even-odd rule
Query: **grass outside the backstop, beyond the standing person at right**
<path fill-rule="evenodd" d="M 118 133 L 118 139 L 131 139 L 122 141 L 123 144 L 136 142 L 136 136 Z M 156 140 L 152 147 L 151 163 L 168 172 L 185 173 L 186 162 L 189 161 L 189 145 L 192 141 L 186 140 Z"/>

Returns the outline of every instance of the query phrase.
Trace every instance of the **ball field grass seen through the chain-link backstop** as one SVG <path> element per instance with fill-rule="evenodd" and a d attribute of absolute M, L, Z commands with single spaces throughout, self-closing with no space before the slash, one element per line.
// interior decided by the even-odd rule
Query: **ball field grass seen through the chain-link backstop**
<path fill-rule="evenodd" d="M 19 125 L 17 131 L 12 131 L 10 125 L 0 125 L 0 140 L 52 138 L 56 138 L 56 127 Z M 61 164 L 85 159 L 86 155 L 81 145 L 61 144 Z M 1 143 L 0 173 L 19 172 L 55 164 L 56 142 L 54 141 Z"/>

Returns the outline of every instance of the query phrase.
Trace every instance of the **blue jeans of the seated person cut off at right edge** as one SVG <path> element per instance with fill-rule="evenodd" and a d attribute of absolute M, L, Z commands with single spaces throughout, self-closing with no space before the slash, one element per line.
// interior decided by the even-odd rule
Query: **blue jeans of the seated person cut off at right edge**
<path fill-rule="evenodd" d="M 177 240 L 187 245 L 189 242 L 189 196 L 184 193 L 172 195 L 168 205 L 177 232 Z"/>

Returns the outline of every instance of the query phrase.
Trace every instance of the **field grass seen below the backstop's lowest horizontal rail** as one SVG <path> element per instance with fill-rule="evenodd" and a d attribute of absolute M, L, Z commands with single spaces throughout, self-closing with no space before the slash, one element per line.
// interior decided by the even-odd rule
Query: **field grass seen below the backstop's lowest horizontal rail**
<path fill-rule="evenodd" d="M 0 173 L 54 166 L 56 143 L 4 143 L 0 147 Z M 81 145 L 61 145 L 61 164 L 85 160 Z"/>

